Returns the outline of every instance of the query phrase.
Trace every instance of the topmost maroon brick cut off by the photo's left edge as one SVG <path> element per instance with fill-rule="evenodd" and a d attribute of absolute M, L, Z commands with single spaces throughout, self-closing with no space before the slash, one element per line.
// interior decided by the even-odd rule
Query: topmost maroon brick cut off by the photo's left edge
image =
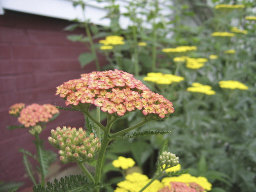
<path fill-rule="evenodd" d="M 0 42 L 26 42 L 26 34 L 23 29 L 0 27 Z"/>

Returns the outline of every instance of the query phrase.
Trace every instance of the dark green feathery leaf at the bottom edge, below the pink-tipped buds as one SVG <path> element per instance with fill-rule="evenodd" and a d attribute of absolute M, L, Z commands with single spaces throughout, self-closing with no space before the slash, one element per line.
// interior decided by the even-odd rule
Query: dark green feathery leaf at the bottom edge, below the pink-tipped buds
<path fill-rule="evenodd" d="M 90 188 L 105 188 L 110 184 L 92 184 L 83 175 L 71 175 L 69 177 L 54 180 L 54 184 L 47 182 L 47 187 L 44 189 L 41 185 L 34 186 L 34 192 L 88 192 Z"/>

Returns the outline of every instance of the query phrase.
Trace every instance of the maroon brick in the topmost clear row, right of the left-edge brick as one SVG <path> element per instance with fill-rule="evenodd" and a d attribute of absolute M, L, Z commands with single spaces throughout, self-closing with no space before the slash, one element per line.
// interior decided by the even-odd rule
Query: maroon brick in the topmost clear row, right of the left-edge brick
<path fill-rule="evenodd" d="M 52 30 L 27 30 L 28 39 L 31 43 L 36 44 L 55 44 L 55 45 L 69 45 L 69 46 L 80 46 L 84 47 L 81 42 L 71 42 L 66 38 L 68 33 L 63 31 L 52 31 Z"/>

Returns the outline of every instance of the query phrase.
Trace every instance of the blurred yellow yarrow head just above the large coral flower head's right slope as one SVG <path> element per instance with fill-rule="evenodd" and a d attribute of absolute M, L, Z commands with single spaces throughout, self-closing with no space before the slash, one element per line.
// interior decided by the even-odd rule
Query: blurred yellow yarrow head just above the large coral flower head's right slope
<path fill-rule="evenodd" d="M 184 77 L 172 74 L 148 73 L 147 76 L 143 78 L 143 80 L 155 82 L 157 84 L 171 84 L 172 82 L 183 81 Z"/>

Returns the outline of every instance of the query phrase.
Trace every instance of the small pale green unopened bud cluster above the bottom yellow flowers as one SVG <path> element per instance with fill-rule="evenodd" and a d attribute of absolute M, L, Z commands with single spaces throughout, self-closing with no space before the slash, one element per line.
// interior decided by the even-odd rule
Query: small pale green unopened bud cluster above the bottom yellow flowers
<path fill-rule="evenodd" d="M 179 158 L 176 157 L 175 154 L 165 151 L 159 156 L 159 162 L 163 170 L 166 170 L 170 167 L 178 165 Z"/>

